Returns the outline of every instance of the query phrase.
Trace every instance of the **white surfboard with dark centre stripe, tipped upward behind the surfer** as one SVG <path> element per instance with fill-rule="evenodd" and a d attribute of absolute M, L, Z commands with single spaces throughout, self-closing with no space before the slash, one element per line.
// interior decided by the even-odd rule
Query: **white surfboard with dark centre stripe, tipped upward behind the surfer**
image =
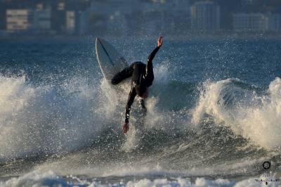
<path fill-rule="evenodd" d="M 100 70 L 108 82 L 111 82 L 112 77 L 118 72 L 129 66 L 125 58 L 104 39 L 96 38 L 96 56 Z"/>

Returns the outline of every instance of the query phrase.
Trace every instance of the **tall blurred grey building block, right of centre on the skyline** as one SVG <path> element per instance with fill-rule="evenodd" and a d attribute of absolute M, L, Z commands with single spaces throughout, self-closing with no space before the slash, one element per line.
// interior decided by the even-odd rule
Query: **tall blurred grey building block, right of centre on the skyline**
<path fill-rule="evenodd" d="M 211 1 L 200 1 L 191 6 L 192 30 L 216 32 L 220 29 L 220 7 Z"/>

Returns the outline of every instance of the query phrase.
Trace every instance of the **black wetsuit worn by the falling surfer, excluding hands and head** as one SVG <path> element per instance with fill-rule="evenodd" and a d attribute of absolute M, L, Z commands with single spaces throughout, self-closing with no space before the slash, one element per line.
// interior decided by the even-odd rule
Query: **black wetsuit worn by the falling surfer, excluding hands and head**
<path fill-rule="evenodd" d="M 129 122 L 130 117 L 130 110 L 131 105 L 133 104 L 133 100 L 136 97 L 136 86 L 138 84 L 145 85 L 147 87 L 152 85 L 152 82 L 154 80 L 154 74 L 153 74 L 153 65 L 152 60 L 155 57 L 157 51 L 159 50 L 159 47 L 156 47 L 152 53 L 150 53 L 150 56 L 148 56 L 148 61 L 146 62 L 146 65 L 141 62 L 136 62 L 131 64 L 129 67 L 126 67 L 122 72 L 119 72 L 115 77 L 112 78 L 112 84 L 118 84 L 119 82 L 122 82 L 122 80 L 132 77 L 131 78 L 131 91 L 129 93 L 129 98 L 126 104 L 126 117 L 125 122 Z M 145 108 L 144 101 L 141 101 L 141 105 L 143 108 Z"/>

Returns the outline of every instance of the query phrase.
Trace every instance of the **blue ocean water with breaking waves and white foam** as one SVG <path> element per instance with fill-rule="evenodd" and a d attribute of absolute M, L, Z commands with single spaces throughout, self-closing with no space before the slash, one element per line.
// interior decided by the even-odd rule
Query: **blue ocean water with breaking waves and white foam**
<path fill-rule="evenodd" d="M 126 135 L 93 41 L 0 41 L 0 186 L 280 186 L 281 40 L 165 39 Z"/>

